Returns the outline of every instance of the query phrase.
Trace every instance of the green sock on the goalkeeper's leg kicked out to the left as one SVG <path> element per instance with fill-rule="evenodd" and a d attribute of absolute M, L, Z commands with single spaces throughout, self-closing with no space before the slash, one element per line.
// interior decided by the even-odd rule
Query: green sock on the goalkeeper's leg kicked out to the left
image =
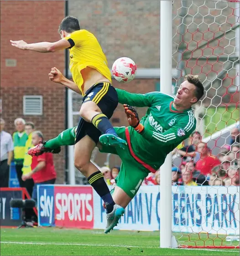
<path fill-rule="evenodd" d="M 57 137 L 47 141 L 44 147 L 54 149 L 61 146 L 74 145 L 75 144 L 74 130 L 75 130 L 75 127 L 62 131 Z"/>

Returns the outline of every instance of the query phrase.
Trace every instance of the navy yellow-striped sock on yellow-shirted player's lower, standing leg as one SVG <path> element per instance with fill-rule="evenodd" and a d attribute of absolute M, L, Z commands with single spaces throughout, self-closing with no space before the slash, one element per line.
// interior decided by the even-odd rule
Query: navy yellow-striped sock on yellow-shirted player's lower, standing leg
<path fill-rule="evenodd" d="M 115 202 L 113 201 L 109 188 L 104 180 L 103 174 L 100 171 L 97 171 L 88 177 L 88 181 L 89 181 L 89 184 L 103 199 L 106 205 L 106 212 L 107 213 L 112 212 Z"/>

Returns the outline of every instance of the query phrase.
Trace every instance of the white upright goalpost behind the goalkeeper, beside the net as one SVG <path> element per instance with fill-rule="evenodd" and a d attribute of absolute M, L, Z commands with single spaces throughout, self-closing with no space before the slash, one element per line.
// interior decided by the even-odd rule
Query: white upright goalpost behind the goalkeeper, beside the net
<path fill-rule="evenodd" d="M 160 2 L 161 93 L 172 95 L 172 1 Z M 172 155 L 160 169 L 160 247 L 172 247 Z"/>

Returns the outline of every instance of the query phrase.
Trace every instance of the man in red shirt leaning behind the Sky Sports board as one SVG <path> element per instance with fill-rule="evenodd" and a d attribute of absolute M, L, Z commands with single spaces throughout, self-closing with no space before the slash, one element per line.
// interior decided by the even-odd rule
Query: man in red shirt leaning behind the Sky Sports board
<path fill-rule="evenodd" d="M 32 144 L 38 145 L 43 141 L 41 131 L 34 131 L 32 133 Z M 31 161 L 31 172 L 22 176 L 22 180 L 33 179 L 34 187 L 32 192 L 32 199 L 37 202 L 37 185 L 40 184 L 54 184 L 57 174 L 53 164 L 52 153 L 43 153 L 40 156 L 33 156 Z"/>

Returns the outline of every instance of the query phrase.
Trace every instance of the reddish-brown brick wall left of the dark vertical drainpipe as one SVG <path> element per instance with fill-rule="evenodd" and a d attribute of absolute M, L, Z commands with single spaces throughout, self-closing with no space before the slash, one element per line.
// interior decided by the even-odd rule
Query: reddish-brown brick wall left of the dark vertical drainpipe
<path fill-rule="evenodd" d="M 64 52 L 41 54 L 22 51 L 11 46 L 9 40 L 27 43 L 59 40 L 57 28 L 64 17 L 64 1 L 1 1 L 0 8 L 0 83 L 2 118 L 6 131 L 12 133 L 14 120 L 22 117 L 35 123 L 45 139 L 64 130 L 65 89 L 48 80 L 53 66 L 64 71 Z M 15 59 L 16 66 L 5 65 Z M 23 95 L 43 96 L 43 115 L 23 115 Z M 64 150 L 63 150 L 64 151 Z M 57 182 L 64 181 L 64 152 L 54 158 Z"/>

